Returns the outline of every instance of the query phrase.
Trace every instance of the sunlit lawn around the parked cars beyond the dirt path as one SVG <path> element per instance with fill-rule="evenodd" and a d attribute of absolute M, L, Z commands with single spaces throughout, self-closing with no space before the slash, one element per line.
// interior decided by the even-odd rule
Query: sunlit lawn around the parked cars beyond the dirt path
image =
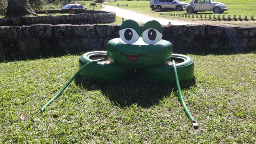
<path fill-rule="evenodd" d="M 227 5 L 227 8 L 229 8 L 228 11 L 225 11 L 223 14 L 220 15 L 226 15 L 226 18 L 228 15 L 233 18 L 233 15 L 236 15 L 238 18 L 238 15 L 241 15 L 242 18 L 247 15 L 248 18 L 250 18 L 251 15 L 256 16 L 256 1 L 255 0 L 246 0 L 244 2 L 241 2 L 241 0 L 215 0 L 217 2 L 222 2 Z M 182 2 L 190 2 L 190 0 L 182 1 Z M 150 1 L 117 1 L 117 2 L 105 2 L 105 4 L 116 6 L 116 4 L 128 4 L 128 7 L 120 7 L 124 9 L 129 10 L 135 10 L 136 12 L 140 12 L 143 14 L 148 14 L 150 16 L 155 17 L 161 17 L 159 16 L 160 13 L 173 13 L 173 14 L 186 14 L 186 11 L 182 12 L 176 12 L 174 11 L 165 11 L 165 12 L 157 12 L 155 10 L 151 10 L 149 7 Z M 197 14 L 214 14 L 213 12 L 198 12 Z M 217 15 L 217 14 L 216 14 Z M 163 16 L 165 17 L 165 16 Z M 208 16 L 207 16 L 208 17 Z M 213 16 L 212 16 L 213 17 Z M 170 17 L 169 17 L 170 18 Z M 180 18 L 177 16 L 172 16 L 171 18 Z M 194 18 L 180 18 L 180 19 L 189 19 L 193 20 Z M 197 18 L 198 20 L 198 18 Z"/>

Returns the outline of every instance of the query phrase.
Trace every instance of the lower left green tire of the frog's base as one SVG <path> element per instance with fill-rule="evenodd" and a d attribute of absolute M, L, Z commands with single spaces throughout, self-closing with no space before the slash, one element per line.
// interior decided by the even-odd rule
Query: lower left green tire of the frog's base
<path fill-rule="evenodd" d="M 79 69 L 88 62 L 91 62 L 91 58 L 95 57 L 107 58 L 106 51 L 87 52 L 83 54 L 79 59 Z M 84 70 L 80 72 L 80 75 L 93 80 L 117 81 L 131 78 L 134 72 L 134 68 L 97 62 L 84 68 Z"/>

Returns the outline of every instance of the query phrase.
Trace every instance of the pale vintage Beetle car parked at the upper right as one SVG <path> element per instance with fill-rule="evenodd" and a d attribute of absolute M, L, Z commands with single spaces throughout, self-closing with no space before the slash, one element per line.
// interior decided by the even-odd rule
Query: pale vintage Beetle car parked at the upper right
<path fill-rule="evenodd" d="M 191 0 L 185 7 L 188 13 L 213 11 L 216 14 L 222 14 L 228 10 L 225 4 L 214 2 L 214 0 Z"/>

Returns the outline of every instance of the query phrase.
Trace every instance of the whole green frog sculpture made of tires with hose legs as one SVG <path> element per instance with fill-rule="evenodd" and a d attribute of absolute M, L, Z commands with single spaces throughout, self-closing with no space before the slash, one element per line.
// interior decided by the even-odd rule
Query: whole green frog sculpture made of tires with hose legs
<path fill-rule="evenodd" d="M 78 74 L 88 79 L 115 81 L 132 78 L 136 73 L 152 82 L 176 82 L 182 106 L 194 128 L 198 128 L 184 103 L 179 85 L 179 81 L 188 82 L 194 77 L 193 60 L 185 55 L 172 54 L 172 43 L 162 40 L 163 28 L 155 20 L 146 22 L 142 28 L 134 20 L 126 20 L 120 26 L 119 35 L 120 38 L 108 41 L 106 52 L 83 54 L 79 59 L 78 72 L 41 110 L 44 111 Z M 101 62 L 107 59 L 109 62 Z"/>

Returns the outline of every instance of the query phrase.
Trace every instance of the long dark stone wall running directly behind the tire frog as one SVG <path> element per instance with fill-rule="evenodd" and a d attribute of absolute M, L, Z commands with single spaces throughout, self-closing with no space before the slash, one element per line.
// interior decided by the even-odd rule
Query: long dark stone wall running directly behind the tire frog
<path fill-rule="evenodd" d="M 119 27 L 98 24 L 1 26 L 0 55 L 61 49 L 105 50 L 108 40 L 119 37 Z M 253 26 L 168 25 L 163 28 L 162 39 L 172 42 L 174 52 L 256 50 L 256 27 Z"/>

